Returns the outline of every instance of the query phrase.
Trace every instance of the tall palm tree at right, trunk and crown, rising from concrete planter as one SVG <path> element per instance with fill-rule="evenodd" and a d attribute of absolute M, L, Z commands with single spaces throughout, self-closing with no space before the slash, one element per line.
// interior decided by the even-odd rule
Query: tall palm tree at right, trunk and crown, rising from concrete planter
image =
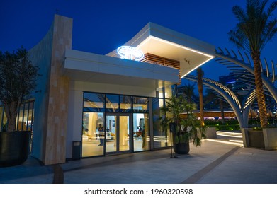
<path fill-rule="evenodd" d="M 276 35 L 276 18 L 272 18 L 273 11 L 276 10 L 277 1 L 271 3 L 267 10 L 268 0 L 247 0 L 246 10 L 239 6 L 234 6 L 232 11 L 238 23 L 228 35 L 230 41 L 237 47 L 246 50 L 251 55 L 254 63 L 254 76 L 256 84 L 257 99 L 261 127 L 267 126 L 266 103 L 264 98 L 263 81 L 261 78 L 260 57 L 268 41 Z"/>

